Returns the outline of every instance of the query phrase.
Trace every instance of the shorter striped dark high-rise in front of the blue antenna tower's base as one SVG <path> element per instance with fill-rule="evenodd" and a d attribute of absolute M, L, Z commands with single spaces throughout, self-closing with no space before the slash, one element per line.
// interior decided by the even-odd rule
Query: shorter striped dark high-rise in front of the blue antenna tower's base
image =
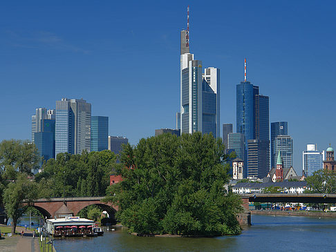
<path fill-rule="evenodd" d="M 269 146 L 269 140 L 248 140 L 248 177 L 266 177 L 270 170 Z"/>

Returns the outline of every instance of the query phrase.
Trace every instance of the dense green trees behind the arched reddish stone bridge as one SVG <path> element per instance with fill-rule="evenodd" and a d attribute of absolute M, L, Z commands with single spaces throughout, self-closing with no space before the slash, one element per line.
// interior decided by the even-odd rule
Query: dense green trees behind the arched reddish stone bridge
<path fill-rule="evenodd" d="M 82 155 L 59 153 L 35 176 L 41 188 L 39 197 L 63 197 L 64 193 L 66 197 L 104 196 L 115 160 L 115 154 L 107 150 Z"/>

